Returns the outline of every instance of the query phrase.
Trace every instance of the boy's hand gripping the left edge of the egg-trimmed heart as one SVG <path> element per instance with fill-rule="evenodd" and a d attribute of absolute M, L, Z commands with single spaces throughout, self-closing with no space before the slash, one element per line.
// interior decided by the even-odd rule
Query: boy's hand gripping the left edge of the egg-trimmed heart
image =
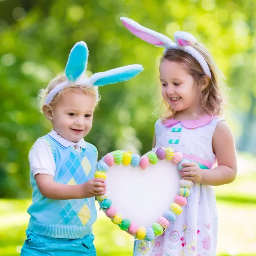
<path fill-rule="evenodd" d="M 83 198 L 104 195 L 107 191 L 106 183 L 103 178 L 93 178 L 83 183 Z"/>

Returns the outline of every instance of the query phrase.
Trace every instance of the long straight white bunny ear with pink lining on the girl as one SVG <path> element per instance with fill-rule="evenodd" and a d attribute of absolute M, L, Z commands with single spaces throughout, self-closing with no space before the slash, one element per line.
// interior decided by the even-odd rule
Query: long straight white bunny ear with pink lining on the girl
<path fill-rule="evenodd" d="M 169 47 L 170 45 L 174 44 L 173 41 L 166 35 L 155 32 L 151 29 L 147 29 L 134 20 L 126 17 L 120 17 L 120 20 L 132 34 L 149 44 L 154 44 L 157 47 Z"/>

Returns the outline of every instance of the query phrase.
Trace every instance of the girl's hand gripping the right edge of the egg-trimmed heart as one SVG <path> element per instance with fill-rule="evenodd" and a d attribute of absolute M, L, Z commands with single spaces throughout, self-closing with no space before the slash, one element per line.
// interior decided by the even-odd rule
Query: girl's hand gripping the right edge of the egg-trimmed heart
<path fill-rule="evenodd" d="M 183 169 L 180 170 L 180 175 L 184 180 L 192 180 L 195 183 L 201 183 L 203 179 L 203 170 L 197 163 L 187 162 L 183 163 Z"/>

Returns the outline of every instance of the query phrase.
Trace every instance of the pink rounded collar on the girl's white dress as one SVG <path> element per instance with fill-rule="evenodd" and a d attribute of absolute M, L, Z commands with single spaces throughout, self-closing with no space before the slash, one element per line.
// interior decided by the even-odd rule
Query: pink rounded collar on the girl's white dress
<path fill-rule="evenodd" d="M 162 124 L 165 127 L 170 127 L 172 125 L 177 124 L 178 122 L 181 122 L 184 127 L 188 129 L 192 129 L 192 128 L 198 128 L 203 125 L 207 125 L 209 124 L 209 122 L 211 122 L 213 119 L 216 119 L 216 118 L 219 118 L 219 116 L 217 115 L 203 116 L 200 119 L 196 119 L 196 120 L 178 121 L 178 120 L 175 120 L 173 117 L 172 119 L 167 119 L 165 122 L 162 121 Z"/>

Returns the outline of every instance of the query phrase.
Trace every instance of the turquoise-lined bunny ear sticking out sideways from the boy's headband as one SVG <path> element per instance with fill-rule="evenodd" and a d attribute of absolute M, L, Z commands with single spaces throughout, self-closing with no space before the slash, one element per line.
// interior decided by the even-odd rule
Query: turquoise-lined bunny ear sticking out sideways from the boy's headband
<path fill-rule="evenodd" d="M 91 85 L 103 86 L 128 81 L 143 71 L 142 65 L 134 64 L 125 67 L 118 67 L 105 72 L 93 74 L 89 82 Z"/>

